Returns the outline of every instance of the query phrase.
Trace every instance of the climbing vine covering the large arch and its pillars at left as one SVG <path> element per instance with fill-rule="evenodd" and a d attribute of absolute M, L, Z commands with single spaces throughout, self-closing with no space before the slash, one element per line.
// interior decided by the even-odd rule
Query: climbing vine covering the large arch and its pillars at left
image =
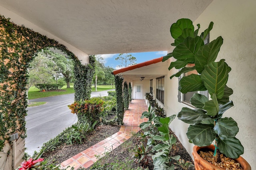
<path fill-rule="evenodd" d="M 82 95 L 88 98 L 88 86 L 91 88 L 90 79 L 94 74 L 94 56 L 90 56 L 89 64 L 82 65 L 64 45 L 0 15 L 0 151 L 4 143 L 11 145 L 9 135 L 18 133 L 20 137 L 26 137 L 27 68 L 37 52 L 50 47 L 59 49 L 74 60 L 75 98 L 83 98 Z M 83 93 L 77 91 L 78 87 Z"/>

